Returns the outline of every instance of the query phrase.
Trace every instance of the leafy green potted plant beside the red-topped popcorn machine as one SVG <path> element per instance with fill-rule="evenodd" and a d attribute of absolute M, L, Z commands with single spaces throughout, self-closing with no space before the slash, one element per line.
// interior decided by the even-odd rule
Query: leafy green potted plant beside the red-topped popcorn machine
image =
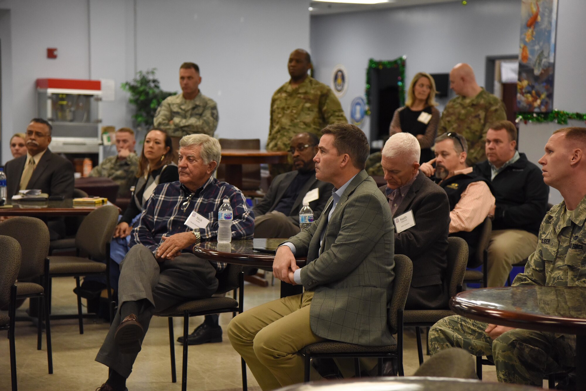
<path fill-rule="evenodd" d="M 170 95 L 177 94 L 177 92 L 161 90 L 155 71 L 156 68 L 144 72 L 138 71 L 134 79 L 121 84 L 122 90 L 130 92 L 128 102 L 137 107 L 136 113 L 132 115 L 137 128 L 151 128 L 156 109 L 161 102 Z"/>

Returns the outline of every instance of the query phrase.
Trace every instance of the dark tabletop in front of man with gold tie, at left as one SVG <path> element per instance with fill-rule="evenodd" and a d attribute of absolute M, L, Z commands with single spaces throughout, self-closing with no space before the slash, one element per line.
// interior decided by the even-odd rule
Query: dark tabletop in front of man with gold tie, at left
<path fill-rule="evenodd" d="M 11 206 L 9 206 L 11 205 Z M 86 216 L 91 211 L 103 205 L 113 205 L 108 201 L 101 205 L 74 206 L 73 198 L 59 201 L 8 201 L 6 206 L 0 207 L 2 216 L 29 216 L 29 217 L 57 217 L 57 216 Z"/>

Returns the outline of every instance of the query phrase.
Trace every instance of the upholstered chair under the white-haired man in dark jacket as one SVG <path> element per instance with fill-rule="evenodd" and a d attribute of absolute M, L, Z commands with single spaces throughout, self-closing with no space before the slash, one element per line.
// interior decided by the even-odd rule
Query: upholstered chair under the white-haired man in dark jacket
<path fill-rule="evenodd" d="M 468 263 L 468 244 L 462 238 L 448 238 L 448 270 L 449 297 L 454 297 L 462 290 L 462 281 Z M 415 327 L 417 337 L 417 354 L 419 364 L 423 363 L 423 348 L 421 347 L 421 327 L 430 327 L 438 320 L 447 316 L 455 315 L 448 307 L 445 310 L 405 310 L 403 314 L 401 330 L 397 333 L 398 338 L 403 339 L 403 327 Z"/>

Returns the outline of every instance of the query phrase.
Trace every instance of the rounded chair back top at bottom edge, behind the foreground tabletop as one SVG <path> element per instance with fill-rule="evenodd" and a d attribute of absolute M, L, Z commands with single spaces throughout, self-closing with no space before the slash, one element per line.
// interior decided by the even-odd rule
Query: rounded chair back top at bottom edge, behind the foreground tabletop
<path fill-rule="evenodd" d="M 468 351 L 460 348 L 448 348 L 437 352 L 421 364 L 413 376 L 478 380 L 474 359 Z"/>

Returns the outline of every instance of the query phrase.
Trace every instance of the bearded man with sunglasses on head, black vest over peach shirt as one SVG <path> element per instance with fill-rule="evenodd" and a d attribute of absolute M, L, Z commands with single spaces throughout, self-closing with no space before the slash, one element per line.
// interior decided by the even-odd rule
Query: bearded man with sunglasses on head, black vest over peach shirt
<path fill-rule="evenodd" d="M 494 208 L 495 197 L 490 193 L 489 181 L 466 166 L 468 143 L 464 136 L 444 133 L 435 139 L 434 150 L 435 158 L 421 164 L 421 172 L 435 178 L 448 194 L 449 235 L 468 243 L 468 259 L 472 259 L 482 222 Z"/>

